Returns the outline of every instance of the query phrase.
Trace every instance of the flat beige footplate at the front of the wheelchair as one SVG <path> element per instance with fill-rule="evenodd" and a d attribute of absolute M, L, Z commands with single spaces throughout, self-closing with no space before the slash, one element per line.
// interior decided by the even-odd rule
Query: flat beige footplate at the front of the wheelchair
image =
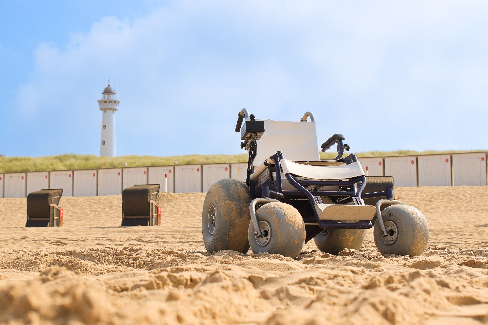
<path fill-rule="evenodd" d="M 315 204 L 320 220 L 372 220 L 376 215 L 373 206 L 349 204 Z"/>

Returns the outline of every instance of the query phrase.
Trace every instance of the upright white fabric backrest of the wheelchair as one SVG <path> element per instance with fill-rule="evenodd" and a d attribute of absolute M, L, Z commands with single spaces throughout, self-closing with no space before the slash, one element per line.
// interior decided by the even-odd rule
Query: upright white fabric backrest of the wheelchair
<path fill-rule="evenodd" d="M 257 143 L 255 167 L 277 151 L 292 161 L 320 160 L 315 122 L 264 120 L 264 134 Z"/>

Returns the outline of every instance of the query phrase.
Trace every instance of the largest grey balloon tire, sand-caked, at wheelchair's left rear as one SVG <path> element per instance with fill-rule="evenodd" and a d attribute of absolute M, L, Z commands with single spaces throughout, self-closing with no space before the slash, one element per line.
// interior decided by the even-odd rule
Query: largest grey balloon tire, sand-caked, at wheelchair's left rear
<path fill-rule="evenodd" d="M 251 200 L 249 188 L 237 179 L 224 178 L 210 186 L 202 210 L 203 244 L 209 253 L 219 250 L 247 253 Z"/>

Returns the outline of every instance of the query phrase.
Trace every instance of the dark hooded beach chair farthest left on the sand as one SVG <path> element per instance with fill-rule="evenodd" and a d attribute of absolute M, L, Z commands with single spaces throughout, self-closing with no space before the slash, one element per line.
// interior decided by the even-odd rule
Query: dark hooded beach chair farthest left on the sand
<path fill-rule="evenodd" d="M 59 207 L 61 196 L 62 189 L 29 193 L 27 195 L 27 222 L 25 227 L 62 226 L 62 210 Z"/>

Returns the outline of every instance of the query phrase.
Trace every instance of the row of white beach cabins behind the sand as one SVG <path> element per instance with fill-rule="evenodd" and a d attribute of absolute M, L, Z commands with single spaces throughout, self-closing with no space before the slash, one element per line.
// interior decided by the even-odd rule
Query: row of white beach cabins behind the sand
<path fill-rule="evenodd" d="M 486 186 L 487 153 L 358 158 L 369 176 L 393 176 L 395 186 Z M 26 197 L 41 189 L 64 196 L 122 194 L 136 184 L 160 184 L 161 191 L 206 192 L 219 179 L 245 181 L 246 163 L 0 173 L 0 197 Z"/>

